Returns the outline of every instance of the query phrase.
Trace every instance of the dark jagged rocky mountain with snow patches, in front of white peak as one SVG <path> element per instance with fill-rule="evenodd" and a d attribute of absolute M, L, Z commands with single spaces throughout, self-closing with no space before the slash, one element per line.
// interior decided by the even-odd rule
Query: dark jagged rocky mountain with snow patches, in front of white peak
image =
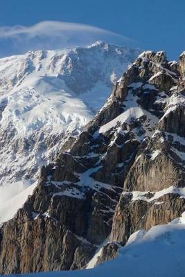
<path fill-rule="evenodd" d="M 33 195 L 1 227 L 1 274 L 83 268 L 110 235 L 98 259 L 104 262 L 134 231 L 181 215 L 185 99 L 179 80 L 166 53 L 139 55 L 103 109 L 42 168 Z"/>

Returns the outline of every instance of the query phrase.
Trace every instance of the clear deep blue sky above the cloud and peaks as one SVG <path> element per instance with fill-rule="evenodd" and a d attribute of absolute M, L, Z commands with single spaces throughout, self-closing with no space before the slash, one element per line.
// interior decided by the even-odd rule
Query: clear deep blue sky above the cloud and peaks
<path fill-rule="evenodd" d="M 1 26 L 32 26 L 40 21 L 110 30 L 134 39 L 124 42 L 130 46 L 166 50 L 170 59 L 185 50 L 184 0 L 1 0 Z"/>

